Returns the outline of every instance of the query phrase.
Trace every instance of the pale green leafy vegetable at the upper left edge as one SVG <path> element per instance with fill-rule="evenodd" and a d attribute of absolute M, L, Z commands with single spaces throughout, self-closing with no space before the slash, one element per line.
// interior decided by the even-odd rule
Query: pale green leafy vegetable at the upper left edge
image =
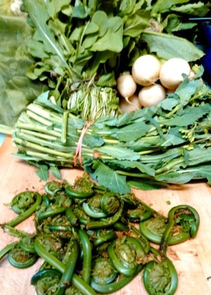
<path fill-rule="evenodd" d="M 34 64 L 26 48 L 31 28 L 23 15 L 11 12 L 9 4 L 0 5 L 0 124 L 13 126 L 25 106 L 47 87 L 27 77 L 27 68 Z"/>

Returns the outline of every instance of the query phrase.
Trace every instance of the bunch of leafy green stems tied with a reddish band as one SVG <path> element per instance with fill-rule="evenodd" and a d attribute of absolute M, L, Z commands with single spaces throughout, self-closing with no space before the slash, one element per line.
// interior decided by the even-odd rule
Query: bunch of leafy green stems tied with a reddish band
<path fill-rule="evenodd" d="M 102 116 L 94 124 L 48 100 L 48 92 L 27 107 L 13 129 L 14 156 L 39 167 L 82 167 L 99 184 L 124 194 L 130 187 L 211 181 L 211 91 L 198 77 L 185 78 L 156 107 Z"/>

